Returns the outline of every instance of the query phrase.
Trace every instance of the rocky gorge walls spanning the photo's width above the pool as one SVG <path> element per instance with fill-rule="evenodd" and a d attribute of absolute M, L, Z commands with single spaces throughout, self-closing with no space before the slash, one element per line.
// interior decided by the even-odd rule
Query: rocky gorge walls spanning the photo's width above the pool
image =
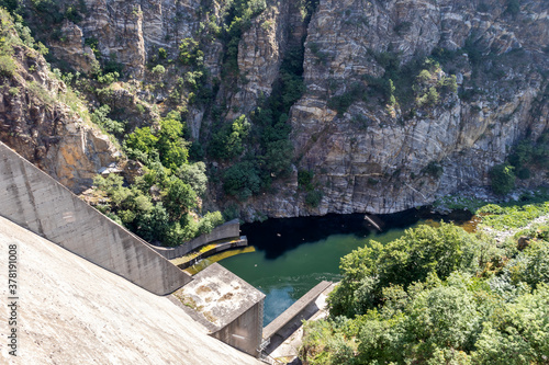
<path fill-rule="evenodd" d="M 246 220 L 432 204 L 488 187 L 520 141 L 547 146 L 545 1 L 89 0 L 55 2 L 57 18 L 47 4 L 15 12 L 53 68 L 79 72 L 65 80 L 82 107 L 109 106 L 119 140 L 179 111 L 205 206 Z M 139 167 L 64 112 L 70 101 L 47 102 L 64 82 L 29 56 L 30 82 L 2 89 L 2 140 L 77 193 L 109 168 L 132 181 Z M 546 159 L 519 185 L 542 183 Z"/>

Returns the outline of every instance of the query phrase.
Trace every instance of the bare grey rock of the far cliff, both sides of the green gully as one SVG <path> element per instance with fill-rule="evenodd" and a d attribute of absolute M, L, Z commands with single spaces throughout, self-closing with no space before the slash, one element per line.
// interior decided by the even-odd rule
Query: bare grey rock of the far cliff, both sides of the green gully
<path fill-rule="evenodd" d="M 209 82 L 221 83 L 215 102 L 231 119 L 271 93 L 285 53 L 304 44 L 306 91 L 290 113 L 293 173 L 242 203 L 248 218 L 429 204 L 486 185 L 490 168 L 519 139 L 548 128 L 547 1 L 320 0 L 310 19 L 305 3 L 268 2 L 251 19 L 235 81 L 221 77 L 222 43 L 213 38 L 203 49 Z M 139 80 L 158 48 L 176 58 L 181 39 L 203 34 L 208 22 L 221 24 L 227 3 L 86 0 L 86 8 L 82 21 L 63 25 L 55 56 L 87 71 L 94 57 L 87 44 L 96 39 L 101 57 Z M 427 56 L 440 67 L 419 80 Z M 444 89 L 450 75 L 457 90 Z M 430 89 L 437 93 L 429 101 Z M 190 109 L 188 125 L 195 139 L 210 134 L 203 106 Z M 314 172 L 317 207 L 305 204 L 298 170 Z"/>

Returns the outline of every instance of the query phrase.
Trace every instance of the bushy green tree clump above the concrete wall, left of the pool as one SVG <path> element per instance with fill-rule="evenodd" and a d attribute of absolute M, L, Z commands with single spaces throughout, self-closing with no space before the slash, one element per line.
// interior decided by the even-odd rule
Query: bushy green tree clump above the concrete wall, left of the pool
<path fill-rule="evenodd" d="M 208 187 L 205 164 L 188 162 L 188 142 L 177 112 L 160 121 L 160 128 L 136 128 L 124 139 L 130 158 L 145 164 L 145 173 L 124 186 L 121 176 L 96 178 L 94 205 L 112 219 L 149 241 L 177 246 L 208 233 L 223 223 L 220 212 L 200 219 L 199 198 Z"/>

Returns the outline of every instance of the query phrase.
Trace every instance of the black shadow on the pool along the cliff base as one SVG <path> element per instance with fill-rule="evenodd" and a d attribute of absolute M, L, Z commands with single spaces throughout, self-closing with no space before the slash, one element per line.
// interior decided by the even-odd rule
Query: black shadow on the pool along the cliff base
<path fill-rule="evenodd" d="M 434 214 L 428 208 L 407 209 L 401 213 L 370 216 L 381 228 L 378 230 L 365 214 L 328 214 L 322 217 L 272 218 L 264 223 L 242 226 L 250 244 L 265 252 L 266 260 L 274 260 L 301 244 L 314 243 L 333 235 L 368 237 L 382 236 L 386 230 L 405 229 L 419 220 L 453 221 L 458 225 L 471 219 L 468 210 L 456 210 L 449 215 Z"/>

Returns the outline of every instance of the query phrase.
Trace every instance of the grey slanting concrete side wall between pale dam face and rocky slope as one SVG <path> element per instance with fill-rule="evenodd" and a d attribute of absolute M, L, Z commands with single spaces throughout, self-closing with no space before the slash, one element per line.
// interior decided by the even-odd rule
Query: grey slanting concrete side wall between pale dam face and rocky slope
<path fill-rule="evenodd" d="M 141 287 L 166 295 L 191 277 L 0 142 L 0 215 Z"/>

